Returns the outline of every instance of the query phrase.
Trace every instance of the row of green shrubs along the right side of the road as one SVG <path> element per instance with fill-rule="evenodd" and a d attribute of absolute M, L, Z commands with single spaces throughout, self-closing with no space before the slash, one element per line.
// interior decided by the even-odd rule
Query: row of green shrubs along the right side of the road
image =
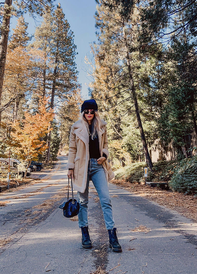
<path fill-rule="evenodd" d="M 144 183 L 145 163 L 132 163 L 115 171 L 115 179 L 131 184 Z M 167 182 L 170 189 L 197 197 L 197 155 L 181 161 L 159 161 L 153 172 L 148 172 L 147 181 Z"/>

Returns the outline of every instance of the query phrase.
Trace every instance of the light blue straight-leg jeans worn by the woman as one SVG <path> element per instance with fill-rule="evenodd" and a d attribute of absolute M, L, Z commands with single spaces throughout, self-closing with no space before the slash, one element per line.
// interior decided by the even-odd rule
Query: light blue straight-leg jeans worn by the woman
<path fill-rule="evenodd" d="M 103 211 L 103 216 L 105 220 L 105 226 L 107 229 L 113 229 L 114 219 L 112 212 L 112 205 L 109 195 L 109 188 L 107 180 L 105 177 L 105 171 L 102 164 L 99 165 L 96 161 L 97 159 L 90 159 L 88 162 L 88 176 L 87 185 L 84 193 L 78 192 L 79 199 L 79 227 L 88 226 L 88 187 L 89 181 L 92 180 L 95 189 L 97 190 L 101 207 Z"/>

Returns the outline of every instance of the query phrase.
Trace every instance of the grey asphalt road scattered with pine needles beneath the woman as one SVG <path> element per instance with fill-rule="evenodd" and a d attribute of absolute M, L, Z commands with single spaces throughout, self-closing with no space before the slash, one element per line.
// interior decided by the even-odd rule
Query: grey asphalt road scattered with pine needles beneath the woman
<path fill-rule="evenodd" d="M 58 208 L 67 186 L 67 157 L 59 159 L 48 179 L 0 194 L 1 201 L 10 201 L 0 207 L 0 237 L 7 239 L 0 249 L 0 274 L 88 274 L 99 266 L 109 274 L 197 273 L 197 224 L 113 184 L 109 189 L 122 253 L 108 247 L 93 184 L 88 206 L 93 248 L 83 249 L 78 222 Z M 151 231 L 132 231 L 139 226 Z"/>

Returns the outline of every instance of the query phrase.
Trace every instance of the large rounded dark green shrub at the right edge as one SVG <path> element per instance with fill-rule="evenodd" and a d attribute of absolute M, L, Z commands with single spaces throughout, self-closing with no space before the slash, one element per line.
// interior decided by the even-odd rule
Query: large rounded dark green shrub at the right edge
<path fill-rule="evenodd" d="M 174 191 L 197 194 L 197 155 L 179 162 L 169 186 Z"/>

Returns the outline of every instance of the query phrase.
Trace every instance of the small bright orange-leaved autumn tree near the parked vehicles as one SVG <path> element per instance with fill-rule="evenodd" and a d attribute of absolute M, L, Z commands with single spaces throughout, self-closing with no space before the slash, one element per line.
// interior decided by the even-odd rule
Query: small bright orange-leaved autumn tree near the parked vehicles
<path fill-rule="evenodd" d="M 47 103 L 47 98 L 40 96 L 36 113 L 25 112 L 25 118 L 21 122 L 15 120 L 11 125 L 13 132 L 9 139 L 10 149 L 12 154 L 21 159 L 27 168 L 32 159 L 36 159 L 47 149 L 43 137 L 48 130 L 52 130 L 49 125 L 54 118 L 53 110 L 47 112 Z M 25 176 L 26 174 L 27 169 Z"/>

